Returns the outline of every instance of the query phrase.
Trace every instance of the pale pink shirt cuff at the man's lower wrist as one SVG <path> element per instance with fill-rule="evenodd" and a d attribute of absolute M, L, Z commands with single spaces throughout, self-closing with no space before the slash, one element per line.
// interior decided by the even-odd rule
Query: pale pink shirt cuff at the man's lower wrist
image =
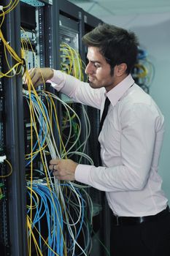
<path fill-rule="evenodd" d="M 93 165 L 77 165 L 75 179 L 84 184 L 90 185 L 90 173 Z"/>

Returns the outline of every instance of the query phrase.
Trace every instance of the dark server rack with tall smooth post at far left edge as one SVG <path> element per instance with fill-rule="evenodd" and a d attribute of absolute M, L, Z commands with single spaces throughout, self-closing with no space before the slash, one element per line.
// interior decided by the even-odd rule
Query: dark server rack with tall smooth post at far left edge
<path fill-rule="evenodd" d="M 9 1 L 1 1 L 7 6 Z M 20 56 L 20 6 L 5 15 L 1 26 L 4 38 Z M 1 45 L 1 70 L 7 72 L 7 61 L 4 58 Z M 15 64 L 9 54 L 9 65 Z M 4 154 L 12 165 L 12 174 L 5 179 L 5 197 L 1 206 L 1 227 L 4 237 L 1 237 L 4 255 L 26 255 L 26 181 L 24 167 L 23 141 L 23 97 L 21 75 L 12 78 L 1 78 L 1 102 L 4 113 L 1 122 L 4 138 Z M 3 145 L 4 144 L 4 145 Z M 6 167 L 7 168 L 7 167 Z"/>

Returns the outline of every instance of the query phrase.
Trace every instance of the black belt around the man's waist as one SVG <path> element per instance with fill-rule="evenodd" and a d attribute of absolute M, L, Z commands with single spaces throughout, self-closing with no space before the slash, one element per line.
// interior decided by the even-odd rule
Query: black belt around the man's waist
<path fill-rule="evenodd" d="M 169 206 L 166 207 L 165 210 L 159 212 L 155 215 L 144 216 L 144 217 L 118 217 L 113 215 L 112 217 L 112 225 L 120 226 L 120 225 L 139 225 L 143 222 L 153 222 L 155 220 L 166 217 L 169 214 Z"/>

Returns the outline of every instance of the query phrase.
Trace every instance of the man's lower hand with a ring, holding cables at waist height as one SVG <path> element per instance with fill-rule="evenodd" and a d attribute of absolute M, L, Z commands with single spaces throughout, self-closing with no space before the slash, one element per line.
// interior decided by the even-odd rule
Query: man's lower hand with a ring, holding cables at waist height
<path fill-rule="evenodd" d="M 53 175 L 61 181 L 74 181 L 77 162 L 71 159 L 52 159 L 49 169 L 53 170 Z"/>

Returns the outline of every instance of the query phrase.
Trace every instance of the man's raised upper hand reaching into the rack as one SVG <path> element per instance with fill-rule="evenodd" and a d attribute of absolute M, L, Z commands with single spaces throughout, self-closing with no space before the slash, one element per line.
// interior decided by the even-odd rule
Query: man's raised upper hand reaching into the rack
<path fill-rule="evenodd" d="M 29 70 L 29 75 L 34 87 L 36 88 L 40 84 L 53 78 L 54 72 L 53 69 L 50 69 L 49 67 L 33 68 Z"/>

